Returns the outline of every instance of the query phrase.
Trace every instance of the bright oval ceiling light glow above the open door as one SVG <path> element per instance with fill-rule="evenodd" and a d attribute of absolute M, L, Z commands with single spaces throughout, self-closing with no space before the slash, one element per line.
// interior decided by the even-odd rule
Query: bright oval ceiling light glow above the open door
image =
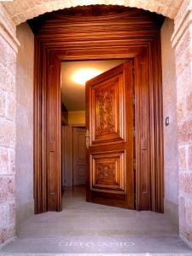
<path fill-rule="evenodd" d="M 71 80 L 76 84 L 85 85 L 85 83 L 103 73 L 102 70 L 96 68 L 80 68 L 72 74 Z"/>

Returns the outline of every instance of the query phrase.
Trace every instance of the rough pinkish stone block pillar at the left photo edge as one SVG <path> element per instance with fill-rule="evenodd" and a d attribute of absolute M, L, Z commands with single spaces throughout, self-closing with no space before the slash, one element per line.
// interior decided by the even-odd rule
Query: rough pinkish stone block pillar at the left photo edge
<path fill-rule="evenodd" d="M 15 26 L 0 3 L 0 244 L 15 236 Z"/>

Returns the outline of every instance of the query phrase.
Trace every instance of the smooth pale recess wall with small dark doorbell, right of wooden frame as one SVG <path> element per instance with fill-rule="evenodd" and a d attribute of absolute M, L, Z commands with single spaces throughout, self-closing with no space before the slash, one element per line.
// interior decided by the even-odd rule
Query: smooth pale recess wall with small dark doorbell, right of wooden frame
<path fill-rule="evenodd" d="M 170 119 L 164 123 L 164 180 L 165 214 L 178 224 L 178 149 L 177 149 L 177 78 L 175 51 L 171 38 L 174 20 L 166 18 L 161 28 L 163 117 Z"/>

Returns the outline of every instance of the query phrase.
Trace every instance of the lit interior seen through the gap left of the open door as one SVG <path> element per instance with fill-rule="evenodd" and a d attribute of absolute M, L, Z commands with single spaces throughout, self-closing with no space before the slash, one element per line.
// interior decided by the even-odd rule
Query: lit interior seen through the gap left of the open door
<path fill-rule="evenodd" d="M 61 62 L 61 188 L 62 188 L 62 209 L 68 203 L 86 200 L 86 185 L 89 187 L 90 172 L 87 166 L 86 154 L 90 145 L 87 143 L 86 132 L 86 111 L 89 111 L 85 100 L 85 84 L 90 79 L 106 73 L 113 67 L 125 63 L 122 60 L 96 60 L 96 61 L 62 61 Z M 120 102 L 119 102 L 120 104 Z M 87 107 L 87 108 L 86 108 Z M 98 106 L 97 106 L 98 108 Z M 97 109 L 98 111 L 98 109 Z M 108 114 L 108 106 L 106 108 Z M 113 109 L 114 111 L 114 109 Z M 134 116 L 134 114 L 133 114 Z M 109 122 L 109 120 L 108 120 Z M 102 124 L 103 125 L 103 124 Z M 135 153 L 133 153 L 135 158 Z M 88 156 L 89 157 L 89 156 Z M 108 161 L 104 168 L 108 171 Z M 121 168 L 118 166 L 118 168 Z M 120 170 L 118 170 L 119 172 Z M 134 170 L 133 170 L 134 172 Z M 108 172 L 102 178 L 109 185 Z M 113 169 L 113 177 L 118 175 Z M 125 178 L 125 177 L 121 177 Z M 113 184 L 116 186 L 122 181 L 116 177 Z M 136 181 L 134 175 L 134 182 Z M 125 180 L 123 181 L 125 182 Z M 134 189 L 136 188 L 134 184 Z M 88 198 L 87 198 L 88 199 Z M 102 203 L 100 201 L 100 203 Z M 110 203 L 109 203 L 110 204 Z"/>

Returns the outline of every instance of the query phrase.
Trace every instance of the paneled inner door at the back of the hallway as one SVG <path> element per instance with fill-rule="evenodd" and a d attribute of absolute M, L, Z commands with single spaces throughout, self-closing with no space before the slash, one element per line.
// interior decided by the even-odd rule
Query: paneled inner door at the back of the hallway
<path fill-rule="evenodd" d="M 85 129 L 73 128 L 73 185 L 86 183 Z"/>

